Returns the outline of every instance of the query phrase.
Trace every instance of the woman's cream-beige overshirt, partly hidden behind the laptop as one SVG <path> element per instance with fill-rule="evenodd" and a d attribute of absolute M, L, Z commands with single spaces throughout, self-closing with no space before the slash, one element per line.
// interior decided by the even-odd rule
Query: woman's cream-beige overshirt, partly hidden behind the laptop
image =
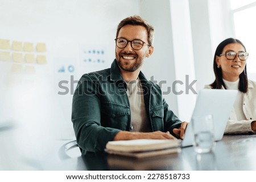
<path fill-rule="evenodd" d="M 211 87 L 207 85 L 205 88 Z M 222 87 L 222 89 L 224 89 L 224 87 Z M 245 120 L 239 120 L 236 109 L 233 108 L 229 116 L 228 124 L 226 125 L 225 133 L 253 132 L 253 130 L 251 130 L 251 122 L 256 121 L 256 82 L 248 80 L 248 91 L 246 93 L 241 92 L 241 95 L 242 112 L 245 115 Z M 238 107 L 241 107 L 241 105 Z"/>

